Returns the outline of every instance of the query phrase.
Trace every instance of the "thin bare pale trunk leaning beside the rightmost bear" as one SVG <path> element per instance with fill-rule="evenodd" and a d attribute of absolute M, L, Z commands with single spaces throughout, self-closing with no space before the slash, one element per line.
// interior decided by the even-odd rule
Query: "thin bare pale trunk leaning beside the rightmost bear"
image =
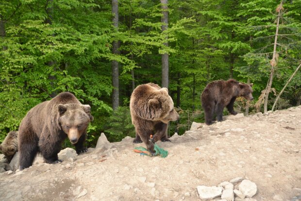
<path fill-rule="evenodd" d="M 271 86 L 273 83 L 273 76 L 274 76 L 274 67 L 277 65 L 277 61 L 276 61 L 276 48 L 277 48 L 277 37 L 278 37 L 278 31 L 279 31 L 279 19 L 281 16 L 281 10 L 283 9 L 282 7 L 282 3 L 283 1 L 281 1 L 280 5 L 277 7 L 276 11 L 278 12 L 277 15 L 277 25 L 276 25 L 276 33 L 275 33 L 275 41 L 274 41 L 274 50 L 273 50 L 273 57 L 272 60 L 270 61 L 271 64 L 271 73 L 269 75 L 269 80 L 268 80 L 268 86 L 266 89 L 266 97 L 265 97 L 265 102 L 264 102 L 264 112 L 268 111 L 268 94 L 271 91 Z"/>

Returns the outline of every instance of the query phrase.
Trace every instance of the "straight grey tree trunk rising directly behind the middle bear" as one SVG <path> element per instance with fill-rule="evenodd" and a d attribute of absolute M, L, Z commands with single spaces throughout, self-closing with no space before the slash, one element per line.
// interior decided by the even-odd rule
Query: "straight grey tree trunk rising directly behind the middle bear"
<path fill-rule="evenodd" d="M 168 27 L 168 7 L 167 3 L 168 0 L 160 0 L 161 2 L 161 9 L 163 17 L 161 18 L 161 22 L 163 23 L 161 28 L 162 32 L 167 30 Z M 166 39 L 168 37 L 166 36 Z M 168 46 L 168 43 L 163 43 L 165 46 Z M 168 54 L 165 53 L 162 55 L 162 87 L 166 87 L 168 89 Z"/>

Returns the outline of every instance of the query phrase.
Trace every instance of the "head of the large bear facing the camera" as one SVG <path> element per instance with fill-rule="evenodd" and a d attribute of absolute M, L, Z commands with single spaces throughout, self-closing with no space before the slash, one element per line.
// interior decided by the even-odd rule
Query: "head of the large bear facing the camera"
<path fill-rule="evenodd" d="M 76 144 L 89 123 L 93 121 L 91 107 L 82 104 L 59 104 L 58 111 L 61 128 L 70 142 Z"/>

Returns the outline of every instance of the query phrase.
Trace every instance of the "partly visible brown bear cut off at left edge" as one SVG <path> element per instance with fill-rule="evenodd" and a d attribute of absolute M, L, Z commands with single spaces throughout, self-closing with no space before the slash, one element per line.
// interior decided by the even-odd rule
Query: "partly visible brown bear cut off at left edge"
<path fill-rule="evenodd" d="M 5 155 L 8 162 L 11 162 L 15 153 L 18 151 L 18 131 L 7 133 L 4 141 L 0 145 L 0 151 Z"/>

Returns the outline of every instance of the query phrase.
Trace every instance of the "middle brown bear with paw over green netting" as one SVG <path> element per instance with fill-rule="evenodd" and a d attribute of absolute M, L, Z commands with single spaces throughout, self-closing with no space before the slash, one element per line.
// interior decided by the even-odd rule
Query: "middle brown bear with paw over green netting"
<path fill-rule="evenodd" d="M 133 142 L 144 142 L 151 154 L 155 155 L 153 143 L 158 140 L 170 141 L 167 138 L 167 124 L 179 119 L 167 88 L 153 83 L 137 86 L 131 95 L 130 111 L 136 130 Z M 151 134 L 153 138 L 150 142 Z"/>

